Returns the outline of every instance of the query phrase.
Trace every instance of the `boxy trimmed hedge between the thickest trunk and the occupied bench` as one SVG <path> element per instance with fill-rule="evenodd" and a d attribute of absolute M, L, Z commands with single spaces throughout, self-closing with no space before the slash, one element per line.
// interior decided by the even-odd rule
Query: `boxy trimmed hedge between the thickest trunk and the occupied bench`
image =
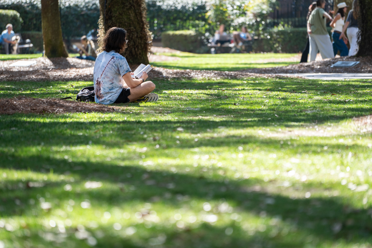
<path fill-rule="evenodd" d="M 163 47 L 190 53 L 198 53 L 202 47 L 201 35 L 192 30 L 163 32 L 161 42 Z"/>

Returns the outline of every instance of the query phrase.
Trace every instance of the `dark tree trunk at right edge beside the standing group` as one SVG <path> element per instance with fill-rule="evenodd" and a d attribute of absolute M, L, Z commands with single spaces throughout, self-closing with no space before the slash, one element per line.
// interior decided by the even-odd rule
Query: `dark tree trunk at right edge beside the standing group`
<path fill-rule="evenodd" d="M 360 43 L 357 56 L 372 56 L 372 0 L 359 0 Z"/>

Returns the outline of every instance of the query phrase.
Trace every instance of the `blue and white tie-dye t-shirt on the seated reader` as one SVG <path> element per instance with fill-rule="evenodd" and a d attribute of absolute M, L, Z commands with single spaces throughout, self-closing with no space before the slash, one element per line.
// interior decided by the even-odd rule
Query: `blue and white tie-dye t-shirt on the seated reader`
<path fill-rule="evenodd" d="M 123 75 L 130 72 L 126 59 L 116 53 L 103 51 L 94 64 L 93 82 L 97 103 L 112 104 L 124 88 Z"/>

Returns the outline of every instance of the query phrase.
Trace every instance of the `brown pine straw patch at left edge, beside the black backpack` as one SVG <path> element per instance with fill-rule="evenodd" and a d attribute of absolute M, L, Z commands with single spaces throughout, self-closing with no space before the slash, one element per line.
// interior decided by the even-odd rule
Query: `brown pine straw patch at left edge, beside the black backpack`
<path fill-rule="evenodd" d="M 115 112 L 112 107 L 103 104 L 76 102 L 54 98 L 9 98 L 0 99 L 0 114 L 15 113 L 89 113 L 89 112 Z"/>

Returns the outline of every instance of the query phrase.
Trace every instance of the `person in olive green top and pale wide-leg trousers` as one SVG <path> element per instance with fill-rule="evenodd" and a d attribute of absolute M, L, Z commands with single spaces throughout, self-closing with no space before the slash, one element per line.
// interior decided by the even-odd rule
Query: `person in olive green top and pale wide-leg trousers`
<path fill-rule="evenodd" d="M 315 61 L 318 50 L 322 58 L 334 58 L 333 45 L 328 34 L 327 19 L 333 20 L 324 10 L 325 0 L 317 0 L 317 8 L 311 13 L 307 22 L 307 32 L 310 40 L 310 61 Z"/>

